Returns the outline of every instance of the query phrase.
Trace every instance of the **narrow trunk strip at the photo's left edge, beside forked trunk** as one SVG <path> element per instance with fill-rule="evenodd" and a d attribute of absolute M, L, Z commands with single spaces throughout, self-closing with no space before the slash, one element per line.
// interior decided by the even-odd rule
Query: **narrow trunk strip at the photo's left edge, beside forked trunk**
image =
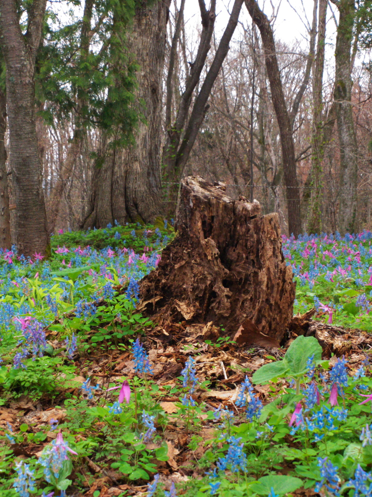
<path fill-rule="evenodd" d="M 8 176 L 6 174 L 6 102 L 5 95 L 0 90 L 0 247 L 10 248 L 10 213 Z"/>

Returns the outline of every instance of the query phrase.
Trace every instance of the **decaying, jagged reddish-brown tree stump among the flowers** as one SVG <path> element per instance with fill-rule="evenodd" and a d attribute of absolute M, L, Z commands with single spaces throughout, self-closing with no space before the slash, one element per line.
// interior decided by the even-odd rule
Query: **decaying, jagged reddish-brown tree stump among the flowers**
<path fill-rule="evenodd" d="M 291 321 L 295 284 L 281 250 L 277 214 L 225 195 L 222 183 L 182 181 L 176 238 L 140 284 L 139 308 L 164 326 L 213 322 L 233 336 L 251 320 L 281 340 Z"/>

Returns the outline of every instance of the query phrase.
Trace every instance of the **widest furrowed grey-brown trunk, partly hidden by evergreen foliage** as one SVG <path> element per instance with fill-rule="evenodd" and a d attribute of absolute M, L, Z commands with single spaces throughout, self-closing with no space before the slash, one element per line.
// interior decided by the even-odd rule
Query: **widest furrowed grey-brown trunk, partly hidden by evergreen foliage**
<path fill-rule="evenodd" d="M 159 0 L 136 10 L 126 50 L 140 66 L 135 97 L 137 108 L 145 102 L 141 111 L 146 122 L 139 122 L 134 146 L 113 146 L 112 137 L 103 137 L 84 229 L 106 227 L 115 220 L 147 223 L 161 213 L 162 75 L 169 3 Z"/>

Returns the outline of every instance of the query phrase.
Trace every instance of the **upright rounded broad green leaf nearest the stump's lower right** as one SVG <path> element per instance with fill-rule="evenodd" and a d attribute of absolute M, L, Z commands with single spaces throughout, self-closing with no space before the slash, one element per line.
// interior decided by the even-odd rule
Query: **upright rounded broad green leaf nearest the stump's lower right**
<path fill-rule="evenodd" d="M 306 363 L 314 354 L 314 361 L 321 360 L 322 348 L 314 336 L 298 336 L 287 350 L 284 360 L 287 361 L 290 374 L 298 375 L 306 371 Z"/>

